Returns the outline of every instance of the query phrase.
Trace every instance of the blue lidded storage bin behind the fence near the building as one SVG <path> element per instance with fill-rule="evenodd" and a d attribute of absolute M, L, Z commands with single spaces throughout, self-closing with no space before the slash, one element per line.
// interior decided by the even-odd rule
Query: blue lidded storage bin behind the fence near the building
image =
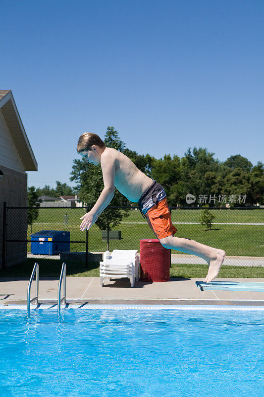
<path fill-rule="evenodd" d="M 41 230 L 31 236 L 31 254 L 57 255 L 70 251 L 70 232 Z"/>

